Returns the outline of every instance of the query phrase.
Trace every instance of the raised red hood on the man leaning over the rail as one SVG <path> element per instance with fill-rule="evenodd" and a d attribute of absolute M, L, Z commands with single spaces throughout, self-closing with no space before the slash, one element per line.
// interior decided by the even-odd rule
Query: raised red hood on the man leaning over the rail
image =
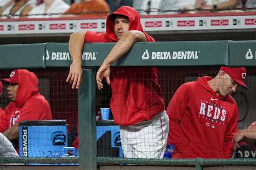
<path fill-rule="evenodd" d="M 136 9 L 131 8 L 130 6 L 121 6 L 119 9 L 114 11 L 112 14 L 107 16 L 106 19 L 106 32 L 107 36 L 112 39 L 114 42 L 117 42 L 118 39 L 114 34 L 114 16 L 115 15 L 123 15 L 129 18 L 130 21 L 130 28 L 129 30 L 137 30 L 143 31 L 142 24 L 140 23 L 140 16 Z"/>

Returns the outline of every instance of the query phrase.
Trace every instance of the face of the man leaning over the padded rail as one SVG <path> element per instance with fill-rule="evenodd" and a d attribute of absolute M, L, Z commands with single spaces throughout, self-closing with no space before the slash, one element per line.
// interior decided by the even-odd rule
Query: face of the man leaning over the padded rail
<path fill-rule="evenodd" d="M 114 33 L 119 40 L 125 32 L 129 31 L 130 22 L 125 16 L 118 16 L 114 19 Z"/>

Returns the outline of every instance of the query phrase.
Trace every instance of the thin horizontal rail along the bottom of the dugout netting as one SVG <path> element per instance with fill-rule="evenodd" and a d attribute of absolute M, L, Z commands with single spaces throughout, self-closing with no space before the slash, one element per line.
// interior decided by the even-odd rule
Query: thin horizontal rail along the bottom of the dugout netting
<path fill-rule="evenodd" d="M 89 145 L 86 145 L 88 148 Z M 82 146 L 80 146 L 82 147 Z M 82 154 L 82 153 L 80 153 Z M 85 155 L 85 154 L 83 154 Z M 88 155 L 88 154 L 86 154 Z M 89 155 L 90 156 L 90 155 Z M 80 155 L 82 157 L 82 155 Z M 96 157 L 96 154 L 93 158 Z M 85 160 L 80 158 L 80 165 Z M 0 158 L 0 164 L 65 164 L 78 163 L 77 157 L 60 157 L 60 158 L 42 158 L 42 157 L 18 157 L 18 158 Z M 96 163 L 95 163 L 96 164 Z M 142 165 L 142 166 L 255 166 L 255 159 L 131 159 L 131 158 L 113 158 L 98 157 L 98 165 Z"/>

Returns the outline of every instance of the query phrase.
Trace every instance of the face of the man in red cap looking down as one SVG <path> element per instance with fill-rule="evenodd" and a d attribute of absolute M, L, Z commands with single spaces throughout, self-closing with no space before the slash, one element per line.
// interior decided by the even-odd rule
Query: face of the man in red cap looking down
<path fill-rule="evenodd" d="M 230 75 L 224 73 L 220 79 L 219 92 L 221 96 L 232 94 L 237 90 L 237 83 L 230 77 Z"/>

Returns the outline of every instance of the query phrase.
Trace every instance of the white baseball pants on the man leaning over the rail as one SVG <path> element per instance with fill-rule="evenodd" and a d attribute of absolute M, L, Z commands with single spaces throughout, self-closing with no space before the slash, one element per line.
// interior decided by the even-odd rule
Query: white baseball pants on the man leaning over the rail
<path fill-rule="evenodd" d="M 164 110 L 152 119 L 131 126 L 120 126 L 125 158 L 164 157 L 169 133 L 169 117 Z"/>

